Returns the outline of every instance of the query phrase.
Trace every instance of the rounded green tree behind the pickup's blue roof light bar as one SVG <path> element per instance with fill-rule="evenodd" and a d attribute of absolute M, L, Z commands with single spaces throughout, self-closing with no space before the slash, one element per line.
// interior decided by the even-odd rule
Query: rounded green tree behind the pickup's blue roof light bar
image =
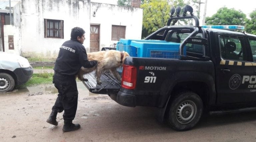
<path fill-rule="evenodd" d="M 220 8 L 212 17 L 206 17 L 206 25 L 245 25 L 246 15 L 241 10 Z"/>

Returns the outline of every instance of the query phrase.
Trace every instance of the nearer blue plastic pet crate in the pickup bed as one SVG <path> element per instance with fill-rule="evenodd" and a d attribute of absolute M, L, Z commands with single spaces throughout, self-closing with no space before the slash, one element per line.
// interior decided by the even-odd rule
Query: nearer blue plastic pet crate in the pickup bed
<path fill-rule="evenodd" d="M 167 59 L 180 58 L 180 43 L 131 41 L 131 46 L 137 48 L 137 57 Z M 186 48 L 184 48 L 183 52 L 184 55 L 186 55 Z"/>

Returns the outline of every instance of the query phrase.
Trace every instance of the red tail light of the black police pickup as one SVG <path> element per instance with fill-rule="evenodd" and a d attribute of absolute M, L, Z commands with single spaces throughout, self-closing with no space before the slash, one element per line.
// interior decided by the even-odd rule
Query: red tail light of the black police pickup
<path fill-rule="evenodd" d="M 137 79 L 137 69 L 134 66 L 123 65 L 122 87 L 134 89 Z"/>

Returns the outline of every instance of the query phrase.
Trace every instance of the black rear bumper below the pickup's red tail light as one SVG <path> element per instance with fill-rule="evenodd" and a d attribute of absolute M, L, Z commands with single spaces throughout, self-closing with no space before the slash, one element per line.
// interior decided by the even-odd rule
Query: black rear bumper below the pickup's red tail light
<path fill-rule="evenodd" d="M 117 94 L 111 94 L 110 98 L 124 106 L 129 106 L 129 107 L 136 106 L 136 96 L 135 95 L 126 94 L 126 93 L 119 91 Z"/>

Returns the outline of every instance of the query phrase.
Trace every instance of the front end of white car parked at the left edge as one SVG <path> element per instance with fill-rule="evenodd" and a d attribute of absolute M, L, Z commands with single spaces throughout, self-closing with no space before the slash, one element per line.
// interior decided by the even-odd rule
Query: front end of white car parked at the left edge
<path fill-rule="evenodd" d="M 32 74 L 33 68 L 26 58 L 0 52 L 0 92 L 12 91 L 26 83 Z"/>

